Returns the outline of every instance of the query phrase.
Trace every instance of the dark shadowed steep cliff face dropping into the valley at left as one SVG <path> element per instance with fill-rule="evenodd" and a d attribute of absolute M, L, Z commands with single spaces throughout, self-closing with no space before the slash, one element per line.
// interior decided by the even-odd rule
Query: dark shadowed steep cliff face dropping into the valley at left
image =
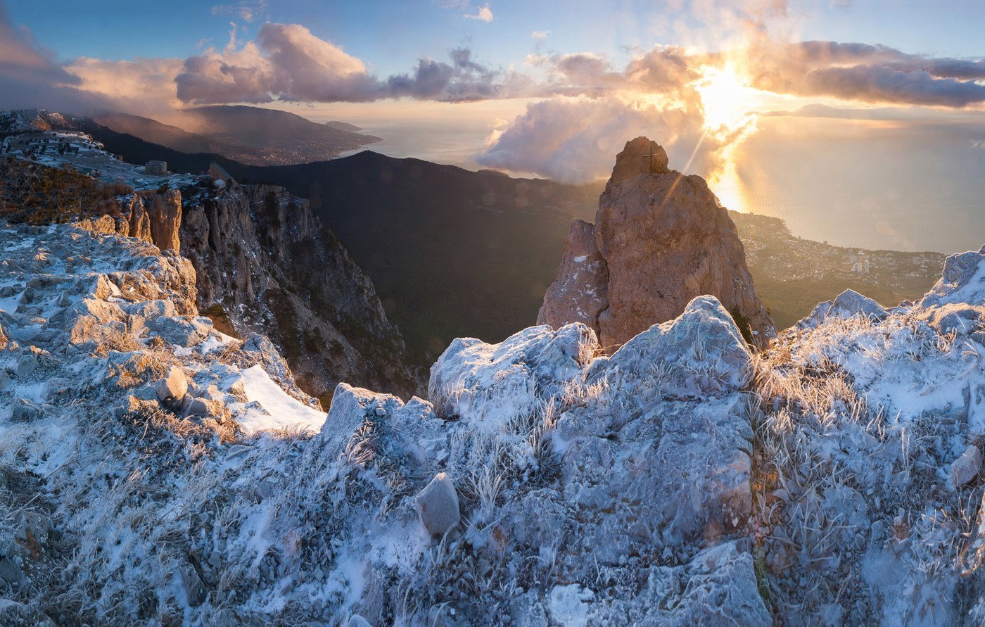
<path fill-rule="evenodd" d="M 309 392 L 323 396 L 343 380 L 405 396 L 419 387 L 372 283 L 306 200 L 230 181 L 186 208 L 180 240 L 200 308 L 228 315 L 239 334 L 273 338 Z"/>

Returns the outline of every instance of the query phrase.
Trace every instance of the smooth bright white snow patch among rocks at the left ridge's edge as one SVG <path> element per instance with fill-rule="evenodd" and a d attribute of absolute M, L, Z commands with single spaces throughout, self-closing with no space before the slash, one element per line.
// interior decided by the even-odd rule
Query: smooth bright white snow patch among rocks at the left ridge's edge
<path fill-rule="evenodd" d="M 277 430 L 285 427 L 301 427 L 304 431 L 317 432 L 328 416 L 302 404 L 274 383 L 260 365 L 242 371 L 243 389 L 250 402 L 256 402 L 267 413 L 246 411 L 239 423 L 246 433 Z"/>

